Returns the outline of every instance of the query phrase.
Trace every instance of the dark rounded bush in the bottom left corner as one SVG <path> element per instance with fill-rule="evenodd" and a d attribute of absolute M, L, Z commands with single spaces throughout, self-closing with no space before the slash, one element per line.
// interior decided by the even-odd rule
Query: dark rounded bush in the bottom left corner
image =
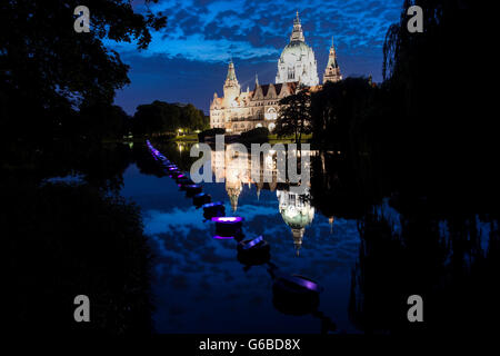
<path fill-rule="evenodd" d="M 87 185 L 1 187 L 14 330 L 151 330 L 150 253 L 139 209 Z M 78 295 L 91 323 L 74 323 Z"/>

